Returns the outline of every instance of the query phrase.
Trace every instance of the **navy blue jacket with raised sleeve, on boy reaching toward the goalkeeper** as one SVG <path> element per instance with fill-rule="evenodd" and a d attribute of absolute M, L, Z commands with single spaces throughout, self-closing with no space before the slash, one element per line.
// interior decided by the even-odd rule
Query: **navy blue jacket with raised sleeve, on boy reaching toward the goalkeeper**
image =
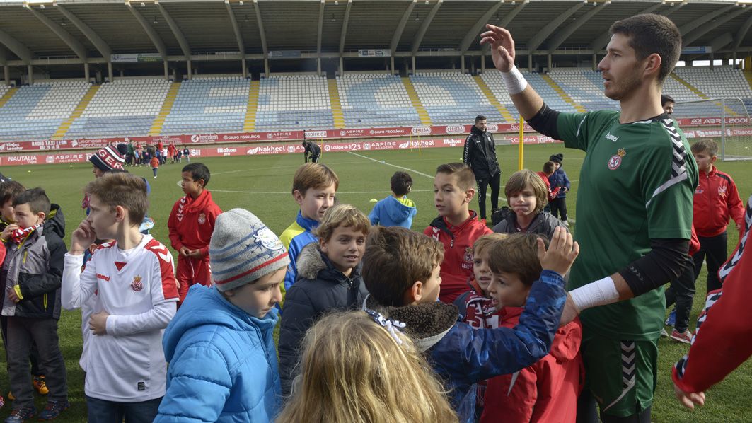
<path fill-rule="evenodd" d="M 459 421 L 475 421 L 475 383 L 511 374 L 548 354 L 566 301 L 564 279 L 550 270 L 532 284 L 514 329 L 475 329 L 457 322 L 453 304 L 440 302 L 405 307 L 381 307 L 368 297 L 365 307 L 405 323 L 405 331 L 429 355 L 433 369 L 450 391 Z"/>

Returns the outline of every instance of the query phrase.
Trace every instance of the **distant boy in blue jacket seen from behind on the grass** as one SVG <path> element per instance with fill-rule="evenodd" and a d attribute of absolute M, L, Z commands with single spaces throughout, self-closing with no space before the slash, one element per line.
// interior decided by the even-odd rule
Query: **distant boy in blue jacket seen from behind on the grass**
<path fill-rule="evenodd" d="M 413 186 L 413 178 L 407 172 L 395 172 L 390 180 L 392 195 L 376 203 L 368 214 L 371 225 L 402 226 L 411 228 L 417 213 L 415 203 L 408 198 Z"/>

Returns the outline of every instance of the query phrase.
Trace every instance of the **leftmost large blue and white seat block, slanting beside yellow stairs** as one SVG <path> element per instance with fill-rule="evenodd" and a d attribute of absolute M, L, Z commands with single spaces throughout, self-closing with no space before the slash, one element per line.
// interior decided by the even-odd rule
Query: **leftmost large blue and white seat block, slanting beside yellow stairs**
<path fill-rule="evenodd" d="M 45 140 L 71 115 L 89 83 L 59 81 L 21 86 L 0 108 L 0 140 Z"/>

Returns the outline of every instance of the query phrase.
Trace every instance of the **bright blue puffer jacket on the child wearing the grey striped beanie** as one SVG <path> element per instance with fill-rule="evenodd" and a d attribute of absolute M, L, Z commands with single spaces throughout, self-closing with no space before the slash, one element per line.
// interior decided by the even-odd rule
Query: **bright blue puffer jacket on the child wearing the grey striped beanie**
<path fill-rule="evenodd" d="M 154 421 L 273 421 L 281 390 L 272 333 L 216 288 L 192 286 L 165 330 L 167 393 Z"/>

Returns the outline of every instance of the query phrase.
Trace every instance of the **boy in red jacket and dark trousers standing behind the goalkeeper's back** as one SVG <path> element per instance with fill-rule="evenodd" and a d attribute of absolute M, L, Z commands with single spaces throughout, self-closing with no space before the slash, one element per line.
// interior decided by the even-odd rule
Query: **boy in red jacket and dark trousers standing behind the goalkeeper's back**
<path fill-rule="evenodd" d="M 744 205 L 736 190 L 736 184 L 728 174 L 713 165 L 717 159 L 718 145 L 714 140 L 699 140 L 692 144 L 699 170 L 699 183 L 694 195 L 693 224 L 700 241 L 700 249 L 693 255 L 695 277 L 702 269 L 702 261 L 708 264 L 708 292 L 720 289 L 718 268 L 728 257 L 729 247 L 726 226 L 729 217 L 736 222 L 739 238 L 744 228 Z"/>

